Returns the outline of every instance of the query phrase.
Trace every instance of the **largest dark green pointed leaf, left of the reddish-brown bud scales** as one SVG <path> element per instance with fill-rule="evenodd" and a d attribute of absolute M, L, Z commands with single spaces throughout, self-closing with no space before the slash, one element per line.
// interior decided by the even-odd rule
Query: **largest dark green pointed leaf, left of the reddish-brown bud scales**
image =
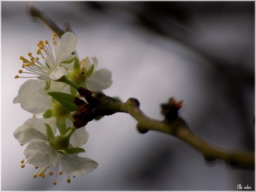
<path fill-rule="evenodd" d="M 48 92 L 48 94 L 57 101 L 59 101 L 64 108 L 68 109 L 68 111 L 72 112 L 78 109 L 78 107 L 74 103 L 75 96 L 62 92 Z"/>

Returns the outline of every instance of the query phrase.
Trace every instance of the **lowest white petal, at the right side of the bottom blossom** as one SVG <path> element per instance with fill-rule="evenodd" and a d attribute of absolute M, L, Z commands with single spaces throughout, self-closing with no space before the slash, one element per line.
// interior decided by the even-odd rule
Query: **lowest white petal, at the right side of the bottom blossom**
<path fill-rule="evenodd" d="M 99 164 L 87 157 L 64 155 L 61 165 L 68 176 L 78 176 L 92 172 Z"/>

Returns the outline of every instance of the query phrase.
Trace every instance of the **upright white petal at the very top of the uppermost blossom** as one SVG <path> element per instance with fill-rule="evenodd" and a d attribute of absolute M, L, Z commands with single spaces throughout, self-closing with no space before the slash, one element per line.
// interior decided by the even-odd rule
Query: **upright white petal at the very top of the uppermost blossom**
<path fill-rule="evenodd" d="M 77 38 L 74 33 L 68 31 L 61 36 L 61 39 L 57 44 L 58 47 L 56 52 L 56 62 L 58 65 L 76 50 L 76 44 Z"/>

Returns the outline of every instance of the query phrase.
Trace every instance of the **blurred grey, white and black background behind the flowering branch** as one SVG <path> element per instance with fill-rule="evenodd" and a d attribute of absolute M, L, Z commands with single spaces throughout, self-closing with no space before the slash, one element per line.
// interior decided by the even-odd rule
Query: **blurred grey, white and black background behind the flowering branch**
<path fill-rule="evenodd" d="M 87 124 L 83 156 L 99 167 L 66 182 L 65 174 L 32 176 L 20 168 L 23 151 L 13 132 L 32 115 L 12 104 L 24 79 L 14 79 L 20 55 L 36 53 L 52 31 L 28 14 L 44 11 L 78 38 L 82 59 L 96 56 L 112 71 L 104 93 L 140 100 L 151 118 L 160 104 L 184 100 L 181 116 L 209 142 L 254 151 L 254 2 L 1 2 L 2 190 L 238 190 L 255 189 L 254 170 L 209 163 L 182 141 L 159 132 L 141 134 L 128 114 Z M 38 101 L 40 102 L 40 101 Z"/>

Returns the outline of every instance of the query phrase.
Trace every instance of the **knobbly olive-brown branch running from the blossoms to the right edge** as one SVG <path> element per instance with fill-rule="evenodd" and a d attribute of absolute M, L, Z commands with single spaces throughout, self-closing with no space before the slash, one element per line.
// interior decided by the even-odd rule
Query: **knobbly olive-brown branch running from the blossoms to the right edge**
<path fill-rule="evenodd" d="M 74 126 L 77 122 L 80 123 L 80 126 L 84 126 L 98 116 L 108 116 L 118 112 L 129 113 L 137 120 L 137 129 L 141 133 L 154 130 L 175 136 L 199 150 L 208 161 L 220 159 L 236 168 L 254 169 L 255 167 L 254 152 L 231 151 L 219 146 L 214 146 L 192 132 L 188 124 L 178 116 L 178 113 L 175 113 L 175 109 L 173 110 L 173 106 L 174 108 L 176 107 L 177 110 L 180 108 L 180 106 L 177 107 L 177 105 L 180 105 L 179 102 L 174 102 L 173 104 L 172 99 L 170 99 L 169 103 L 163 104 L 162 112 L 166 119 L 165 121 L 158 121 L 149 118 L 141 111 L 139 108 L 140 103 L 137 99 L 130 98 L 125 103 L 122 103 L 116 102 L 113 98 L 102 93 L 96 94 L 96 97 L 93 99 L 89 90 L 83 89 L 81 92 L 79 92 L 80 95 L 85 97 L 86 100 L 90 100 L 90 102 L 88 102 L 89 105 L 87 104 L 86 106 L 81 107 L 74 113 L 73 118 L 76 120 Z"/>

